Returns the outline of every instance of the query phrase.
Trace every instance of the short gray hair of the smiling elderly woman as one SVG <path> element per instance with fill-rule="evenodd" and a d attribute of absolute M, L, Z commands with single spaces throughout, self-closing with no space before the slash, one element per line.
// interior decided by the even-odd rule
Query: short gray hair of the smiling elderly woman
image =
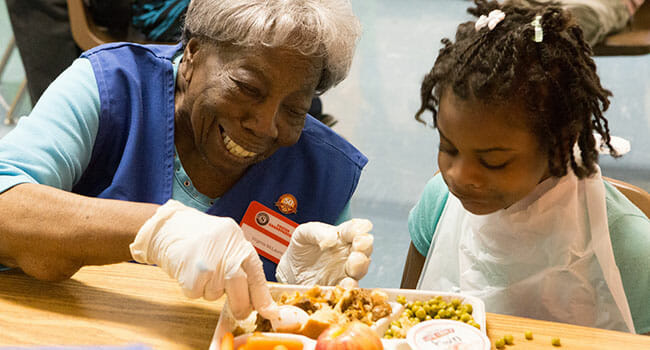
<path fill-rule="evenodd" d="M 192 0 L 190 38 L 237 46 L 281 47 L 324 58 L 318 93 L 348 74 L 361 29 L 349 0 Z"/>

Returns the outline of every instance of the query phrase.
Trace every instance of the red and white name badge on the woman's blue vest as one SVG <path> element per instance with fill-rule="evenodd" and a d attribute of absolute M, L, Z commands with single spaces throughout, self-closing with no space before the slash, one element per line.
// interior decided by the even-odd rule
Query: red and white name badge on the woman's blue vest
<path fill-rule="evenodd" d="M 244 236 L 253 243 L 257 253 L 276 264 L 287 250 L 297 226 L 297 223 L 256 201 L 251 202 L 241 221 Z"/>

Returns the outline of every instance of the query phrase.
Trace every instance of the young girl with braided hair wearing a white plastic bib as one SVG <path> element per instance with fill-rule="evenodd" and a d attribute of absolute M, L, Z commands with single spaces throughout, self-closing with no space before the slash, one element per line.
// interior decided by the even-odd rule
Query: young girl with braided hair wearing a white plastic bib
<path fill-rule="evenodd" d="M 611 93 L 581 30 L 558 7 L 475 2 L 422 83 L 440 174 L 410 213 L 402 287 L 650 332 L 650 222 L 601 177 Z"/>

